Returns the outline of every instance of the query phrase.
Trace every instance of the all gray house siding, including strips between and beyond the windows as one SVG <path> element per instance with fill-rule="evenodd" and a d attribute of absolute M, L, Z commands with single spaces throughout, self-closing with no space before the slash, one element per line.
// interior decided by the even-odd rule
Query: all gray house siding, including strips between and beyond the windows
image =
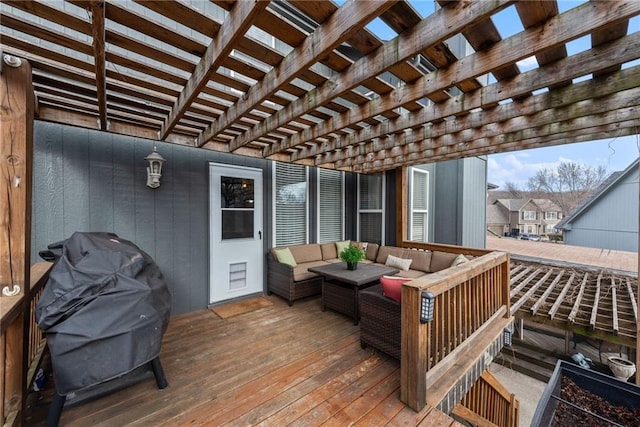
<path fill-rule="evenodd" d="M 273 162 L 40 121 L 34 144 L 32 262 L 40 259 L 38 251 L 75 231 L 114 232 L 158 263 L 171 290 L 172 314 L 206 308 L 209 256 L 215 256 L 209 252 L 209 162 L 264 170 L 265 252 L 272 246 Z M 144 161 L 154 144 L 167 159 L 156 190 L 146 186 Z M 474 239 L 484 238 L 480 189 L 486 172 L 478 162 L 422 166 L 431 171 L 431 241 L 479 246 Z M 315 241 L 317 171 L 309 176 L 309 236 Z M 356 175 L 347 173 L 345 185 L 345 238 L 355 239 Z M 470 188 L 463 193 L 465 186 Z M 394 171 L 386 173 L 385 188 L 385 241 L 393 245 L 399 212 Z"/>

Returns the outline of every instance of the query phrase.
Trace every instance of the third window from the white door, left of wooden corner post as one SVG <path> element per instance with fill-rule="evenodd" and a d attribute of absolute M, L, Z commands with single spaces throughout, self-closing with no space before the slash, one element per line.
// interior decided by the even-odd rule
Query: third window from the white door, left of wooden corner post
<path fill-rule="evenodd" d="M 358 175 L 358 240 L 384 244 L 384 177 Z"/>

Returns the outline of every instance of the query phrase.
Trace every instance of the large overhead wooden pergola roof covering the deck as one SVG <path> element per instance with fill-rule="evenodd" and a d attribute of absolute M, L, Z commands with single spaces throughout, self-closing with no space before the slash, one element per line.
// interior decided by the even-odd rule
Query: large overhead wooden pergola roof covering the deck
<path fill-rule="evenodd" d="M 2 3 L 1 49 L 33 67 L 40 120 L 359 173 L 640 126 L 636 1 L 439 0 L 426 17 L 381 0 Z M 502 39 L 509 7 L 524 30 Z M 455 36 L 475 52 L 456 57 Z"/>

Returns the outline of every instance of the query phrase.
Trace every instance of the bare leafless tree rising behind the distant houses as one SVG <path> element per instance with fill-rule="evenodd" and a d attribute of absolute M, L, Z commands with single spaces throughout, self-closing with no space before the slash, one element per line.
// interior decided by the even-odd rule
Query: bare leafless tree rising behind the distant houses
<path fill-rule="evenodd" d="M 541 169 L 529 178 L 532 192 L 544 192 L 562 209 L 564 215 L 573 211 L 607 177 L 607 170 L 598 166 L 562 162 L 556 169 Z"/>

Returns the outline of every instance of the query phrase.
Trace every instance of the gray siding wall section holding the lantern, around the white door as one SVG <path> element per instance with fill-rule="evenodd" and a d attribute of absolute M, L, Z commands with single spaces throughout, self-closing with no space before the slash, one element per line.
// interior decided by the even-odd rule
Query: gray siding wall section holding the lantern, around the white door
<path fill-rule="evenodd" d="M 157 143 L 167 163 L 160 188 L 152 190 L 144 157 L 153 141 L 36 122 L 34 144 L 32 262 L 75 231 L 114 232 L 158 263 L 172 314 L 208 302 L 209 162 L 266 171 L 264 223 L 270 224 L 271 164 L 262 159 Z"/>

